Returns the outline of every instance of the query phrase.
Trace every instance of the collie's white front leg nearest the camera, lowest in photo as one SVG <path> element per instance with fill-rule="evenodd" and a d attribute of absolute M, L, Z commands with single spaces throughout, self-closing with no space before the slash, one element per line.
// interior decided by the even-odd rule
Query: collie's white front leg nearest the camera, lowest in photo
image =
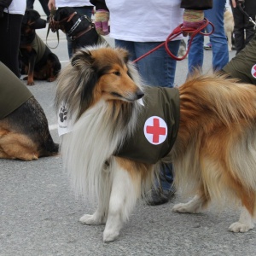
<path fill-rule="evenodd" d="M 113 241 L 119 236 L 125 220 L 131 214 L 138 197 L 139 177 L 126 171 L 118 162 L 113 163 L 113 184 L 111 189 L 108 219 L 103 233 L 103 241 Z"/>

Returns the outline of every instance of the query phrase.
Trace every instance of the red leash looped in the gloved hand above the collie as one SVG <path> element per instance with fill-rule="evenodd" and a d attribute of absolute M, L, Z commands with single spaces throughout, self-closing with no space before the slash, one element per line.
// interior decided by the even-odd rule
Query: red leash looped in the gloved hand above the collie
<path fill-rule="evenodd" d="M 204 24 L 202 26 L 200 26 L 199 28 L 197 29 L 194 29 L 194 28 L 184 28 L 183 27 L 183 24 L 180 24 L 179 26 L 177 26 L 173 31 L 172 33 L 166 38 L 166 41 L 160 45 L 158 45 L 157 47 L 155 47 L 154 49 L 151 49 L 149 50 L 147 53 L 145 53 L 144 55 L 140 56 L 139 58 L 137 58 L 135 61 L 132 61 L 133 63 L 137 62 L 137 61 L 140 61 L 141 59 L 143 59 L 144 57 L 150 55 L 152 52 L 154 52 L 156 49 L 159 49 L 160 47 L 162 47 L 163 45 L 165 45 L 165 49 L 166 49 L 166 52 L 168 55 L 170 55 L 174 60 L 177 60 L 177 61 L 182 61 L 188 54 L 189 54 L 189 49 L 190 49 L 190 46 L 192 44 L 192 41 L 193 41 L 193 38 L 195 38 L 195 35 L 198 34 L 198 33 L 201 33 L 202 35 L 204 36 L 209 36 L 211 35 L 213 32 L 214 32 L 214 26 L 212 24 L 212 22 L 210 22 L 209 20 L 207 20 L 206 18 L 204 19 Z M 201 30 L 203 30 L 204 28 L 207 27 L 207 25 L 211 25 L 212 26 L 212 31 L 209 32 L 209 33 L 204 33 L 204 32 L 201 32 Z M 171 50 L 168 49 L 168 43 L 170 41 L 172 41 L 173 38 L 177 38 L 177 36 L 179 36 L 180 34 L 182 34 L 183 32 L 185 33 L 190 33 L 191 36 L 190 36 L 190 40 L 189 40 L 189 46 L 188 46 L 188 49 L 186 51 L 186 54 L 183 55 L 183 57 L 181 58 L 178 58 L 176 55 L 173 55 Z"/>

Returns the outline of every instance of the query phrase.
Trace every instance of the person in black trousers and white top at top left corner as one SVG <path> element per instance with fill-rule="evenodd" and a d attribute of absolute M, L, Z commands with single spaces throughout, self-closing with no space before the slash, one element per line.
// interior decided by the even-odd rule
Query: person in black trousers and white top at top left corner
<path fill-rule="evenodd" d="M 0 0 L 0 61 L 20 78 L 20 29 L 26 0 Z"/>

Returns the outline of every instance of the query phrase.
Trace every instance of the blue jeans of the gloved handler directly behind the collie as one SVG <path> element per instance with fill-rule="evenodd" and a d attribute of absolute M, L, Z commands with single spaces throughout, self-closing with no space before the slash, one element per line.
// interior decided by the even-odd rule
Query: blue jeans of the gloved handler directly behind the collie
<path fill-rule="evenodd" d="M 115 40 L 115 46 L 125 48 L 131 55 L 131 61 L 154 49 L 162 42 L 131 42 L 124 40 Z M 168 43 L 172 54 L 177 55 L 180 40 Z M 161 47 L 150 55 L 137 61 L 137 69 L 143 78 L 143 82 L 150 86 L 173 87 L 176 71 L 176 62 L 166 53 L 166 49 Z M 172 190 L 172 164 L 163 166 L 160 173 L 160 184 L 157 187 L 171 191 Z"/>

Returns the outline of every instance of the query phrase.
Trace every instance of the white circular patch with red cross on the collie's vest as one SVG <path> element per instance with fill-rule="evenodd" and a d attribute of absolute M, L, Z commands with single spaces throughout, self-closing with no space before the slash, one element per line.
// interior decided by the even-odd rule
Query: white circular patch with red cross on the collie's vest
<path fill-rule="evenodd" d="M 144 125 L 144 135 L 151 144 L 163 143 L 167 137 L 166 121 L 159 116 L 148 118 Z"/>

